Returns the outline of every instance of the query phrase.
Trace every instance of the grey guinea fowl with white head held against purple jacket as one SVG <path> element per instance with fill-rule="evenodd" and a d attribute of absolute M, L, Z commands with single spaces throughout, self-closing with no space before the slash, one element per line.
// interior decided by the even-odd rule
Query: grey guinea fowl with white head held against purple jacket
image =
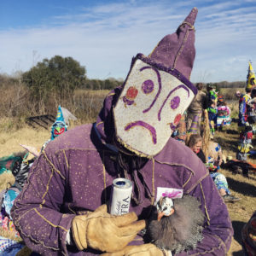
<path fill-rule="evenodd" d="M 158 219 L 148 224 L 148 239 L 157 247 L 175 253 L 195 248 L 203 238 L 204 215 L 200 205 L 191 195 L 173 200 L 161 197 L 156 205 Z"/>

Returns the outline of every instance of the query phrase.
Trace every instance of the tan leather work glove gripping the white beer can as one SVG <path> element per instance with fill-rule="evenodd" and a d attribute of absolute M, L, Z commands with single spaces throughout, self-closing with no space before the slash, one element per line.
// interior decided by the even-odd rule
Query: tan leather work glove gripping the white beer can
<path fill-rule="evenodd" d="M 71 230 L 79 250 L 91 247 L 102 252 L 115 252 L 124 248 L 145 228 L 145 221 L 137 221 L 135 212 L 113 216 L 107 206 L 98 207 L 95 212 L 73 218 Z"/>

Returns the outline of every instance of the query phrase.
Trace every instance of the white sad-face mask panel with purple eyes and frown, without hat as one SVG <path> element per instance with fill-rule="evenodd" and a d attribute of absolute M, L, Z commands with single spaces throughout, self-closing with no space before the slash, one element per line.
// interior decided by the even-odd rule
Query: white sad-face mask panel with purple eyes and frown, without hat
<path fill-rule="evenodd" d="M 119 142 L 143 156 L 158 154 L 195 96 L 185 83 L 177 71 L 137 59 L 113 109 Z"/>

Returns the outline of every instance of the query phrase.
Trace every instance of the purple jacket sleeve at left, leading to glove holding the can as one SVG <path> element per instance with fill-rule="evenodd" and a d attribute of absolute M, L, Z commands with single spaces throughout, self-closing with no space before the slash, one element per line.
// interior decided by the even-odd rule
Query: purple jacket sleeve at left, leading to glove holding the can
<path fill-rule="evenodd" d="M 27 247 L 45 255 L 59 255 L 60 250 L 67 253 L 67 230 L 74 215 L 61 213 L 66 175 L 60 170 L 65 170 L 65 157 L 59 156 L 63 160 L 59 166 L 55 154 L 51 155 L 49 159 L 43 152 L 34 162 L 11 216 Z"/>

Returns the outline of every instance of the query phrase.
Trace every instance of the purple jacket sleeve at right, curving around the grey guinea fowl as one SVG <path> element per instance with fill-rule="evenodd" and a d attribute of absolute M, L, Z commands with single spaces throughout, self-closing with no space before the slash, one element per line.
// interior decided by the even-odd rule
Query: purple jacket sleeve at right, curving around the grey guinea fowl
<path fill-rule="evenodd" d="M 189 194 L 201 200 L 201 210 L 206 216 L 204 238 L 195 250 L 177 255 L 226 255 L 230 249 L 233 228 L 228 209 L 221 196 L 218 195 L 218 189 L 212 177 L 209 175 L 205 177 Z"/>

